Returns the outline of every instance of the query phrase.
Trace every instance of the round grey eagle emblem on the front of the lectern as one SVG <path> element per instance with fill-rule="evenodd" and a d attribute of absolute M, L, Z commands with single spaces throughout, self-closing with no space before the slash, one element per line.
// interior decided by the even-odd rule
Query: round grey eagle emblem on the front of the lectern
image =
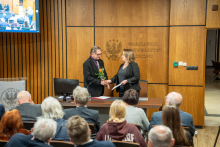
<path fill-rule="evenodd" d="M 18 92 L 19 90 L 15 88 L 6 89 L 1 93 L 0 103 L 9 108 L 16 106 Z"/>

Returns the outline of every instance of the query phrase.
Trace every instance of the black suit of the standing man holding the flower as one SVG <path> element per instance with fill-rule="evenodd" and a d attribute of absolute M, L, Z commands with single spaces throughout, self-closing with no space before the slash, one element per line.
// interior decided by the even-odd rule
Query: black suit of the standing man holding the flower
<path fill-rule="evenodd" d="M 99 59 L 98 62 L 101 68 L 105 68 L 104 62 L 101 59 Z M 101 85 L 101 79 L 98 78 L 98 75 L 95 75 L 95 73 L 99 73 L 98 68 L 96 67 L 92 58 L 89 57 L 83 63 L 84 87 L 88 89 L 89 93 L 93 97 L 103 95 L 104 93 L 104 86 Z M 107 80 L 108 76 L 105 70 L 104 74 Z"/>

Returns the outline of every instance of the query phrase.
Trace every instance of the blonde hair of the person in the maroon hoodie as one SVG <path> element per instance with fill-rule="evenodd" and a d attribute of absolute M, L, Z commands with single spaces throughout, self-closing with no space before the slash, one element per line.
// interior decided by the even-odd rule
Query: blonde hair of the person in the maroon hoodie
<path fill-rule="evenodd" d="M 121 100 L 115 100 L 111 106 L 109 111 L 109 121 L 114 122 L 122 122 L 124 121 L 124 117 L 126 115 L 126 106 L 125 103 Z"/>

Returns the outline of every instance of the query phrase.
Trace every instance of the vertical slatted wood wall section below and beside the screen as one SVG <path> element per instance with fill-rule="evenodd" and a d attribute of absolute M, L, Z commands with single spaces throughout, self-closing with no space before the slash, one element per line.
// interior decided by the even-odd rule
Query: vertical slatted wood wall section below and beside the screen
<path fill-rule="evenodd" d="M 39 6 L 40 33 L 0 33 L 0 78 L 27 77 L 35 103 L 53 95 L 53 78 L 66 78 L 66 0 Z"/>

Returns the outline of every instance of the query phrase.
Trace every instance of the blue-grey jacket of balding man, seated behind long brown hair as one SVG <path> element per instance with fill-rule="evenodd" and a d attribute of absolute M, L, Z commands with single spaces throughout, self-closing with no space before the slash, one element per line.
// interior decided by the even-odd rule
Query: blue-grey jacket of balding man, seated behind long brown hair
<path fill-rule="evenodd" d="M 181 119 L 182 125 L 189 127 L 191 135 L 194 136 L 195 126 L 193 123 L 192 115 L 189 113 L 183 112 L 180 109 L 179 109 L 179 113 L 180 113 L 180 119 Z M 152 125 L 161 125 L 161 124 L 162 124 L 162 111 L 154 112 L 153 115 L 151 116 L 149 130 L 151 129 Z"/>

